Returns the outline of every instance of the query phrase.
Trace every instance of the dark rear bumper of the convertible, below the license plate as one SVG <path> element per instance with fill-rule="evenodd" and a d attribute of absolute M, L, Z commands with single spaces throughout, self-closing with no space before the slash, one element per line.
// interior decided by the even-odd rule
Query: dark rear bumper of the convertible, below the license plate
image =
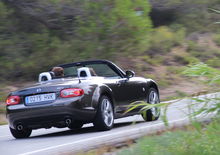
<path fill-rule="evenodd" d="M 7 107 L 7 119 L 13 129 L 20 124 L 32 129 L 66 127 L 66 119 L 92 122 L 96 114 L 95 109 L 82 105 L 77 100 L 36 106 L 12 105 Z"/>

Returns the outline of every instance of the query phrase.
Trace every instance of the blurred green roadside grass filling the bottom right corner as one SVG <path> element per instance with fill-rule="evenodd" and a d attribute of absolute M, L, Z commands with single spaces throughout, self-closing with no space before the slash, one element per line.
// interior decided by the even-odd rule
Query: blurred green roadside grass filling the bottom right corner
<path fill-rule="evenodd" d="M 220 119 L 205 127 L 147 136 L 118 155 L 218 155 L 220 152 Z"/>

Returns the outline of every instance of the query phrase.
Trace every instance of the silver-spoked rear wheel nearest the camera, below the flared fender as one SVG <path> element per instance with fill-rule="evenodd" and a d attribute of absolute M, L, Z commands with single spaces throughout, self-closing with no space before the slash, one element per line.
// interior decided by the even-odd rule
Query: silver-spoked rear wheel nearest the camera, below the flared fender
<path fill-rule="evenodd" d="M 95 128 L 100 131 L 112 129 L 114 125 L 114 112 L 111 100 L 107 96 L 102 96 L 93 122 Z"/>

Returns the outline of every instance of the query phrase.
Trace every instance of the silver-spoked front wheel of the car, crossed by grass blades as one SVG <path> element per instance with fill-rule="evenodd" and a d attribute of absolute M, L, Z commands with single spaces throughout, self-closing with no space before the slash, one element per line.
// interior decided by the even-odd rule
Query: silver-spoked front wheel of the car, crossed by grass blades
<path fill-rule="evenodd" d="M 159 103 L 159 95 L 155 88 L 150 88 L 147 94 L 147 103 L 157 104 Z M 155 121 L 160 117 L 160 108 L 152 108 L 142 112 L 142 117 L 145 121 Z"/>

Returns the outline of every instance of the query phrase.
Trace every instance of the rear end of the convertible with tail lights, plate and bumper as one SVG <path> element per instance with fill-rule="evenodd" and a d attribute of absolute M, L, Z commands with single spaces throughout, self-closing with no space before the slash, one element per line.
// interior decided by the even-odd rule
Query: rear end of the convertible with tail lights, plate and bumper
<path fill-rule="evenodd" d="M 11 93 L 6 101 L 13 130 L 67 127 L 72 121 L 89 122 L 94 111 L 84 110 L 83 89 L 71 85 L 37 86 Z"/>

